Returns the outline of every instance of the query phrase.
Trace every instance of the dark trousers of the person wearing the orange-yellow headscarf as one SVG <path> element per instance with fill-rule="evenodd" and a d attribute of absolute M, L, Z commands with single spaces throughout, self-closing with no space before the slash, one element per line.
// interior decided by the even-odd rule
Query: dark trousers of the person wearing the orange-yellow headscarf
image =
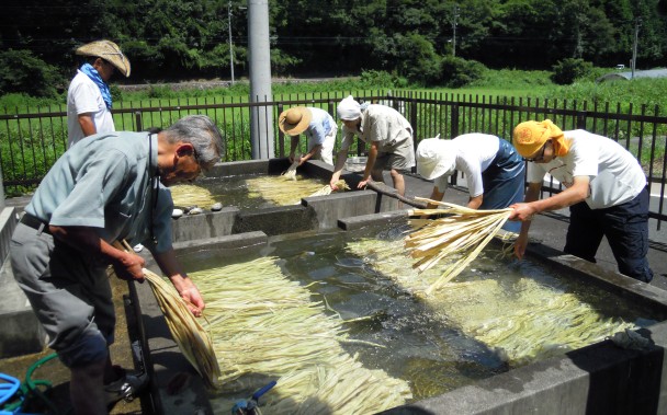
<path fill-rule="evenodd" d="M 591 209 L 585 201 L 569 207 L 565 253 L 596 262 L 596 253 L 607 237 L 619 272 L 644 283 L 653 279 L 648 267 L 648 191 L 634 199 L 604 209 Z"/>

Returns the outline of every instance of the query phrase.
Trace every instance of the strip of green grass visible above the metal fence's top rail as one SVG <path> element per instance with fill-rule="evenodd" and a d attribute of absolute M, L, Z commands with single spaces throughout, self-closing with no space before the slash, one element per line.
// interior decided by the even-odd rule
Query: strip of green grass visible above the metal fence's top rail
<path fill-rule="evenodd" d="M 374 90 L 411 90 L 430 93 L 450 93 L 460 95 L 507 96 L 516 99 L 549 99 L 577 100 L 579 102 L 610 103 L 615 108 L 621 105 L 625 111 L 632 104 L 634 108 L 646 105 L 648 114 L 654 114 L 655 107 L 667 107 L 667 78 L 666 79 L 635 79 L 632 81 L 611 81 L 597 83 L 595 79 L 613 69 L 598 68 L 589 78 L 570 85 L 556 85 L 550 80 L 549 71 L 523 70 L 488 70 L 484 77 L 473 84 L 460 89 L 446 88 L 417 88 L 405 81 L 386 74 L 371 74 L 359 78 L 346 78 L 326 82 L 283 81 L 272 85 L 274 97 L 282 100 L 299 99 L 306 95 L 326 97 L 335 92 L 374 91 Z M 171 105 L 182 102 L 214 103 L 222 101 L 244 102 L 248 100 L 249 85 L 240 80 L 231 88 L 195 88 L 174 91 L 167 85 L 152 85 L 140 91 L 123 91 L 112 82 L 111 85 L 116 107 L 131 107 L 148 104 Z M 37 99 L 23 94 L 9 94 L 0 96 L 0 112 L 31 112 L 37 108 L 64 108 L 65 93 L 55 99 Z"/>

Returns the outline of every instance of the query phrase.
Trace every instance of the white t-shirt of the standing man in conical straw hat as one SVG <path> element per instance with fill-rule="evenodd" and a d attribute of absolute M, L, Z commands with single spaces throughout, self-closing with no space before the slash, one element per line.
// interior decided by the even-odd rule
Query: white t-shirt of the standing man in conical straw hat
<path fill-rule="evenodd" d="M 83 130 L 79 124 L 79 114 L 92 113 L 97 132 L 115 131 L 111 112 L 102 99 L 100 88 L 80 70 L 69 83 L 67 91 L 67 146 L 82 139 Z"/>

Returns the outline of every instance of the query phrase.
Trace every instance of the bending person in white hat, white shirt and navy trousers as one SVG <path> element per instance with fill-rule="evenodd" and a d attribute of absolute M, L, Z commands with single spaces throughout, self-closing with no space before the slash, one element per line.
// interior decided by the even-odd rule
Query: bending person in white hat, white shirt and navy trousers
<path fill-rule="evenodd" d="M 427 138 L 417 146 L 417 173 L 433 180 L 431 199 L 442 200 L 454 171 L 465 174 L 471 209 L 502 209 L 523 200 L 525 168 L 512 145 L 488 134 L 464 134 L 452 140 Z M 519 233 L 521 224 L 502 229 Z"/>

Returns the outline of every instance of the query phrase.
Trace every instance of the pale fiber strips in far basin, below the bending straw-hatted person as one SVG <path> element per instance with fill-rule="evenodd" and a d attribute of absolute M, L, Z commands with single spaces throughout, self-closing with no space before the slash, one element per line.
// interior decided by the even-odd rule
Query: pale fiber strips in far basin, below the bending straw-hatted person
<path fill-rule="evenodd" d="M 303 197 L 321 189 L 323 182 L 296 176 L 296 181 L 284 175 L 260 176 L 246 180 L 249 197 L 261 197 L 278 206 L 298 205 Z"/>

